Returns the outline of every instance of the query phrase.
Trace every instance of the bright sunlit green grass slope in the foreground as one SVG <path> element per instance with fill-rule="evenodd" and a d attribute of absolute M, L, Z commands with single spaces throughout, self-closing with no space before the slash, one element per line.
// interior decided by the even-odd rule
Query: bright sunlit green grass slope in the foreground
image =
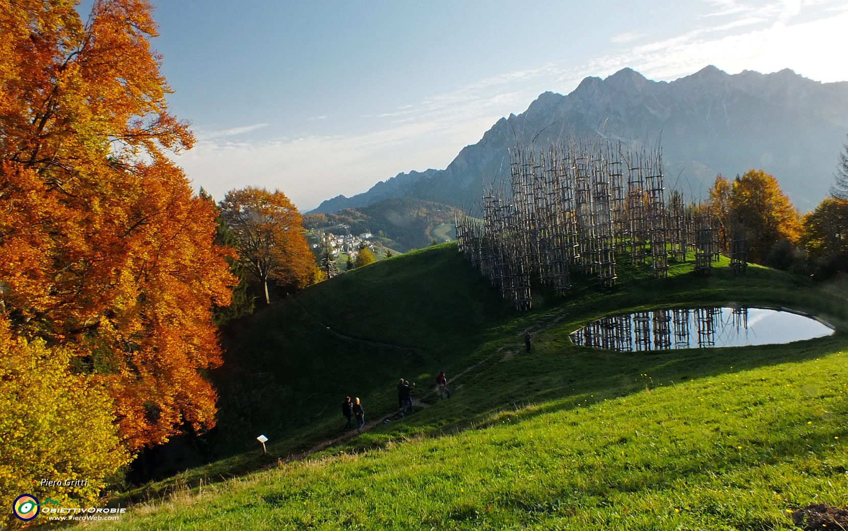
<path fill-rule="evenodd" d="M 812 343 L 807 354 L 833 346 Z M 115 527 L 789 529 L 799 506 L 848 502 L 845 362 L 838 352 L 662 386 L 630 374 L 641 391 L 325 454 L 139 507 Z"/>

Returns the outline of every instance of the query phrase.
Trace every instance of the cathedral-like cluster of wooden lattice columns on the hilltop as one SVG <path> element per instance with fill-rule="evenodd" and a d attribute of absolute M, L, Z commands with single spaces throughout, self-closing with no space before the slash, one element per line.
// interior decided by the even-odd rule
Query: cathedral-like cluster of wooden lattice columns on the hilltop
<path fill-rule="evenodd" d="M 671 204 L 666 196 L 659 148 L 573 139 L 546 150 L 516 146 L 509 189 L 485 191 L 482 221 L 457 216 L 456 238 L 505 299 L 529 310 L 534 278 L 557 295 L 571 288 L 572 272 L 611 288 L 622 259 L 666 277 L 669 254 L 685 260 L 700 220 L 679 193 Z"/>

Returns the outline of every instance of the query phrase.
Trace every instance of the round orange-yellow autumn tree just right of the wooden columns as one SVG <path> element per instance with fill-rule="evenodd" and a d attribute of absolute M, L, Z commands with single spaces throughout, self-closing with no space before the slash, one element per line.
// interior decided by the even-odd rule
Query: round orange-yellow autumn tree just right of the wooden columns
<path fill-rule="evenodd" d="M 726 231 L 745 232 L 749 261 L 762 264 L 778 244 L 797 243 L 801 237 L 797 210 L 765 171 L 748 170 L 732 182 L 717 176 L 710 199 Z"/>

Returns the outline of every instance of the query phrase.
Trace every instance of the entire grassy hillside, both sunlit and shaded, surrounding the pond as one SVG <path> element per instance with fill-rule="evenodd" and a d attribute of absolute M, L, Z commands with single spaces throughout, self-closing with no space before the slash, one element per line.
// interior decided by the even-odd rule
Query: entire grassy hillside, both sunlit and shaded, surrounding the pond
<path fill-rule="evenodd" d="M 597 316 L 656 305 L 789 305 L 845 319 L 844 293 L 779 271 L 689 273 L 673 265 L 655 280 L 622 267 L 619 288 L 578 286 L 563 301 L 538 290 L 534 310 L 516 314 L 448 244 L 306 289 L 227 336 L 209 444 L 230 457 L 148 491 L 271 465 L 336 437 L 345 394 L 363 399 L 366 419 L 382 418 L 396 408 L 398 377 L 419 382 L 419 411 L 310 461 L 207 484 L 202 497 L 182 491 L 121 525 L 608 528 L 624 518 L 630 528 L 779 528 L 793 506 L 844 505 L 834 439 L 848 420 L 841 324 L 830 338 L 742 349 L 569 343 Z M 427 394 L 440 369 L 456 378 L 450 400 Z M 255 450 L 259 433 L 271 438 L 269 456 Z"/>

